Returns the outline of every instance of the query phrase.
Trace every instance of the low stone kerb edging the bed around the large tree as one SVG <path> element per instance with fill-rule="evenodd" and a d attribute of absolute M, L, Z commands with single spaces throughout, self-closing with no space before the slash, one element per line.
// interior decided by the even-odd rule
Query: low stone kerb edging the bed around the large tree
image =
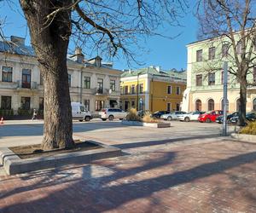
<path fill-rule="evenodd" d="M 8 175 L 25 173 L 28 171 L 44 170 L 63 166 L 66 164 L 88 164 L 93 160 L 102 158 L 114 158 L 121 155 L 121 150 L 96 141 L 90 141 L 102 148 L 78 151 L 73 153 L 61 153 L 55 156 L 20 159 L 8 147 L 0 148 L 0 164 Z"/>

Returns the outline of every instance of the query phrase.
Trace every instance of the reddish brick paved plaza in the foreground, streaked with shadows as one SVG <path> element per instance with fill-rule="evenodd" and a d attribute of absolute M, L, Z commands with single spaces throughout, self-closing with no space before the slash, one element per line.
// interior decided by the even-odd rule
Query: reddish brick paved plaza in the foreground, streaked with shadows
<path fill-rule="evenodd" d="M 256 144 L 104 142 L 124 155 L 0 176 L 0 212 L 256 212 Z"/>

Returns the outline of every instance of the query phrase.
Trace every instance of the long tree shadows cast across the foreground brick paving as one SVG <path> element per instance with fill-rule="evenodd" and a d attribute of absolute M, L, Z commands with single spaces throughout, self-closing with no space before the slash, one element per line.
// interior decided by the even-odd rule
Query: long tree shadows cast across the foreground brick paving
<path fill-rule="evenodd" d="M 15 204 L 8 204 L 2 211 L 37 210 L 40 212 L 41 210 L 47 212 L 52 210 L 50 208 L 54 208 L 56 211 L 67 210 L 67 212 L 69 210 L 74 212 L 115 210 L 129 201 L 148 198 L 161 190 L 220 174 L 225 170 L 256 161 L 256 152 L 244 153 L 216 162 L 200 164 L 187 170 L 169 171 L 168 174 L 156 173 L 155 176 L 145 176 L 143 180 L 137 180 L 137 176 L 143 176 L 143 172 L 149 170 L 157 170 L 163 166 L 167 166 L 166 169 L 172 169 L 170 167 L 172 167 L 176 153 L 155 154 L 156 157 L 159 154 L 158 158 L 154 158 L 153 155 L 153 159 L 150 158 L 147 161 L 142 160 L 141 162 L 138 159 L 137 162 L 141 162 L 139 166 L 132 164 L 132 161 L 129 162 L 130 168 L 128 169 L 119 169 L 119 164 L 102 166 L 96 163 L 84 166 L 82 176 L 79 176 L 76 170 L 57 170 L 47 175 L 41 173 L 41 177 L 38 176 L 34 179 L 28 175 L 27 178 L 32 184 L 15 187 L 13 190 L 3 193 L 1 199 L 18 196 L 19 193 L 31 195 L 37 189 L 39 192 L 45 190 L 47 196 L 28 201 L 18 199 Z M 95 166 L 98 166 L 96 170 L 98 173 L 93 174 Z M 51 187 L 56 187 L 56 189 L 50 190 Z"/>

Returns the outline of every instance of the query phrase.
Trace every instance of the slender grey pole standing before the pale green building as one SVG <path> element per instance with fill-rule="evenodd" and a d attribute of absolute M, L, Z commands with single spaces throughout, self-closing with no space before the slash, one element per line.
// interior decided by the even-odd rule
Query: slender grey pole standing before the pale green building
<path fill-rule="evenodd" d="M 224 82 L 223 82 L 223 105 L 224 105 L 224 115 L 223 115 L 223 130 L 222 135 L 227 135 L 227 101 L 228 101 L 228 62 L 224 61 Z"/>

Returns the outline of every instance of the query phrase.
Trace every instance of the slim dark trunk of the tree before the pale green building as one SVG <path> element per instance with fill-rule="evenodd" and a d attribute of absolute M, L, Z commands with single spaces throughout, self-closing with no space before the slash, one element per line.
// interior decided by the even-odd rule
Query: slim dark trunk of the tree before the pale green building
<path fill-rule="evenodd" d="M 247 76 L 241 75 L 240 78 L 240 109 L 239 109 L 239 125 L 246 125 L 247 113 Z"/>

